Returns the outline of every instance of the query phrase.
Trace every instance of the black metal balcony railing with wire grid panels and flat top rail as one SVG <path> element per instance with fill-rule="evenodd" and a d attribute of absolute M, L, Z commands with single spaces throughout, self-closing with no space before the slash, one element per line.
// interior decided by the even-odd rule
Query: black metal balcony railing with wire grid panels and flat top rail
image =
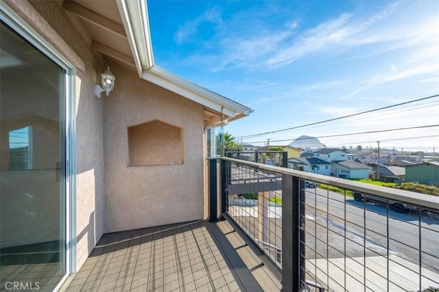
<path fill-rule="evenodd" d="M 439 291 L 439 197 L 225 157 L 209 170 L 210 219 L 239 226 L 283 291 Z"/>

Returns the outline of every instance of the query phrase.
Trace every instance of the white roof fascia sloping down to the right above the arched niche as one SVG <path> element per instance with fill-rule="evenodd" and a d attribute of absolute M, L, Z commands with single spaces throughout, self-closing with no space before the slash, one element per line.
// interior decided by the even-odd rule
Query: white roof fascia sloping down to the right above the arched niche
<path fill-rule="evenodd" d="M 200 103 L 201 105 L 209 107 L 219 113 L 222 112 L 230 118 L 239 114 L 249 116 L 253 112 L 252 109 L 244 105 L 240 105 L 239 103 L 235 103 L 235 101 L 216 94 L 215 92 L 206 90 L 206 88 L 191 83 L 156 65 L 152 66 L 150 70 L 143 72 L 143 79 L 156 85 L 160 85 L 163 88 L 167 88 L 172 92 L 176 92 L 181 96 L 185 96 L 191 101 Z"/>

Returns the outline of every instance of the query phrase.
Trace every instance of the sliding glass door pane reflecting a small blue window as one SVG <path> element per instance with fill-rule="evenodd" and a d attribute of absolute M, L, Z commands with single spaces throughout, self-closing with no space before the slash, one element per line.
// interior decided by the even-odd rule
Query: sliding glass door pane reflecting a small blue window
<path fill-rule="evenodd" d="M 66 72 L 1 22 L 0 290 L 66 274 Z"/>

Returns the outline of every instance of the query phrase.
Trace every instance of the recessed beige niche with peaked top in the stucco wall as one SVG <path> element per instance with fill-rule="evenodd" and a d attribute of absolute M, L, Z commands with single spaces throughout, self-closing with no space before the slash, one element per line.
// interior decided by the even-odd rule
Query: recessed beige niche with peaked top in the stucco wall
<path fill-rule="evenodd" d="M 182 129 L 159 120 L 128 127 L 130 165 L 182 164 Z"/>

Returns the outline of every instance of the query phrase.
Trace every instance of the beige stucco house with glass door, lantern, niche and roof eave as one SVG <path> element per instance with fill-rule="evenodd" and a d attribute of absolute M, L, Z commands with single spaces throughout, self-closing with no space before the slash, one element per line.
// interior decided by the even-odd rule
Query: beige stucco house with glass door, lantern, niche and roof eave
<path fill-rule="evenodd" d="M 206 129 L 252 110 L 154 64 L 145 1 L 1 0 L 0 18 L 2 281 L 52 263 L 11 272 L 56 290 L 104 233 L 206 217 Z"/>

